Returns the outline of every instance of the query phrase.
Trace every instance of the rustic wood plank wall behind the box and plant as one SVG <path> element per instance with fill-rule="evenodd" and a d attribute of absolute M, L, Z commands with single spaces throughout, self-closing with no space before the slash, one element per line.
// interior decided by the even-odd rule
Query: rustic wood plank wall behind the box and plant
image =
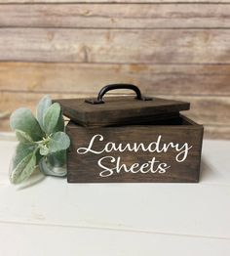
<path fill-rule="evenodd" d="M 108 83 L 191 102 L 230 139 L 230 0 L 0 0 L 0 131 L 16 107 Z"/>

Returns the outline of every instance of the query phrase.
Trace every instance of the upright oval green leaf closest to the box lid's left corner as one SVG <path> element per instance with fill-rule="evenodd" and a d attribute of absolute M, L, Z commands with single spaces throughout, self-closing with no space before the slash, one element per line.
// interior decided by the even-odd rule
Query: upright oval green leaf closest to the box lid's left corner
<path fill-rule="evenodd" d="M 58 103 L 53 104 L 46 111 L 43 118 L 44 131 L 46 134 L 50 135 L 55 132 L 56 126 L 58 124 L 58 118 L 60 115 L 60 106 Z"/>

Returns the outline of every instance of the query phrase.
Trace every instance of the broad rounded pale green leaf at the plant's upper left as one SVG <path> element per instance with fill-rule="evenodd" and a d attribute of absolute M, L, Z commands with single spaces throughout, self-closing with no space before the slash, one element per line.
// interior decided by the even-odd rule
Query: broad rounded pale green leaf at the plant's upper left
<path fill-rule="evenodd" d="M 31 110 L 26 107 L 20 107 L 12 113 L 10 125 L 13 130 L 26 133 L 33 141 L 40 141 L 44 137 L 37 119 L 33 116 Z"/>

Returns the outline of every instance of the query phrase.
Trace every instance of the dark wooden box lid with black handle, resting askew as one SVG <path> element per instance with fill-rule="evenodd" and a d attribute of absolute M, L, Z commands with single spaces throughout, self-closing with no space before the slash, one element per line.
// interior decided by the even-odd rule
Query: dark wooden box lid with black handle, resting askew
<path fill-rule="evenodd" d="M 134 96 L 104 97 L 106 92 L 115 89 L 130 89 Z M 64 115 L 83 126 L 109 126 L 141 124 L 148 121 L 172 118 L 180 110 L 187 110 L 189 103 L 150 98 L 141 95 L 132 84 L 112 84 L 104 86 L 96 99 L 55 100 L 60 104 Z"/>

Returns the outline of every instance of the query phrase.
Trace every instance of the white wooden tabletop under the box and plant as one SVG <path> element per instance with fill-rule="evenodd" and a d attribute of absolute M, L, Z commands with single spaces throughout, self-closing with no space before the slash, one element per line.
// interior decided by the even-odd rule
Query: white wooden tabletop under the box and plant
<path fill-rule="evenodd" d="M 230 141 L 204 141 L 199 184 L 16 187 L 0 138 L 0 255 L 230 255 Z"/>

